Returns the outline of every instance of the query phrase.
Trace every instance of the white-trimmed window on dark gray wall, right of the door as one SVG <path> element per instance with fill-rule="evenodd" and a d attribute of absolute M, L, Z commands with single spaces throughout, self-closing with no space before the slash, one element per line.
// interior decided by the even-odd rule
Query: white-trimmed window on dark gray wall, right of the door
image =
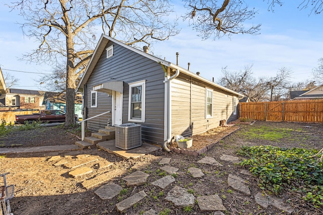
<path fill-rule="evenodd" d="M 146 80 L 129 84 L 129 112 L 128 121 L 145 121 Z"/>

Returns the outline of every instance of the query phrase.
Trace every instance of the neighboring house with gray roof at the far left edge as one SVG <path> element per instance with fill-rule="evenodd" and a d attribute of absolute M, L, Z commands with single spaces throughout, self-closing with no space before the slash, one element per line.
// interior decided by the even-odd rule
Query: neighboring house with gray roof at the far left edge
<path fill-rule="evenodd" d="M 0 99 L 0 110 L 40 110 L 44 91 L 7 88 L 5 98 Z"/>

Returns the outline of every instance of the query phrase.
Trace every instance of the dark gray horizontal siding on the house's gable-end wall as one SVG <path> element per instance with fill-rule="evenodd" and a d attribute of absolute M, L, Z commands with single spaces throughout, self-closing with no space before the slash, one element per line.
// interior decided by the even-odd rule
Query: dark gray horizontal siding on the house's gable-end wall
<path fill-rule="evenodd" d="M 111 45 L 109 42 L 105 48 Z M 142 80 L 146 80 L 145 122 L 137 124 L 142 125 L 143 141 L 161 145 L 164 141 L 164 70 L 160 64 L 122 46 L 114 44 L 114 55 L 107 59 L 104 49 L 88 79 L 88 117 L 112 109 L 112 97 L 100 92 L 98 106 L 90 108 L 90 91 L 93 86 L 109 81 L 123 81 L 122 123 L 129 123 L 129 83 Z M 112 121 L 112 114 L 90 120 L 88 129 L 96 131 L 103 128 L 109 119 Z"/>

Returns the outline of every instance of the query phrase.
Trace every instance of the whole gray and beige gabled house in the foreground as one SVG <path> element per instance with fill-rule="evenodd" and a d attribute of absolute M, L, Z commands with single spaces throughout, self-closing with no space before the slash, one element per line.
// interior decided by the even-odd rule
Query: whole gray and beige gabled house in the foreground
<path fill-rule="evenodd" d="M 174 135 L 190 136 L 238 118 L 242 94 L 102 35 L 77 87 L 84 119 L 97 131 L 112 125 L 141 125 L 144 142 L 163 145 Z"/>

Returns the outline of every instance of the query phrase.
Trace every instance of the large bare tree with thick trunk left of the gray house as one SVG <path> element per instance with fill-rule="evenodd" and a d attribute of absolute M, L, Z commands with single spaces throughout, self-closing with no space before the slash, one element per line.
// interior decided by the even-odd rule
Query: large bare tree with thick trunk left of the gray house
<path fill-rule="evenodd" d="M 162 0 L 19 0 L 11 8 L 24 17 L 24 34 L 39 42 L 24 59 L 66 64 L 66 126 L 75 123 L 76 82 L 91 58 L 100 27 L 104 34 L 134 46 L 178 34 L 176 23 L 165 19 L 172 7 Z"/>

